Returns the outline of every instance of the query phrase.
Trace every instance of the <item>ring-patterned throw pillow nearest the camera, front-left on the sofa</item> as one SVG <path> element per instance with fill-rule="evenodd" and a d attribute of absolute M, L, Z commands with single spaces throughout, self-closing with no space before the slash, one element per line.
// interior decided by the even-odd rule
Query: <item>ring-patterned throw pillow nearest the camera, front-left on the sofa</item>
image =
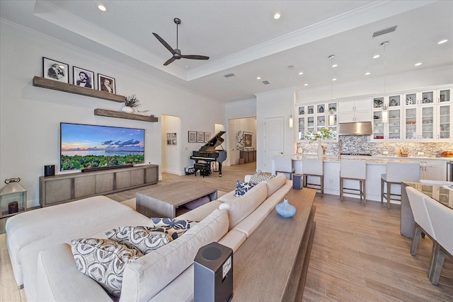
<path fill-rule="evenodd" d="M 122 272 L 143 254 L 107 239 L 74 239 L 71 250 L 77 269 L 97 281 L 113 296 L 121 295 Z"/>

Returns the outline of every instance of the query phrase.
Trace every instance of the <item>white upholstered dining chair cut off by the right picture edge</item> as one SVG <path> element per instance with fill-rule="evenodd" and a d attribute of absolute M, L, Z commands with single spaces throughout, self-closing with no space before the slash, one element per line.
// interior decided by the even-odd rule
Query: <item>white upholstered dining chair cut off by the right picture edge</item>
<path fill-rule="evenodd" d="M 453 259 L 453 209 L 428 196 L 425 197 L 425 203 L 437 240 L 434 267 L 430 269 L 430 281 L 437 285 L 445 255 Z"/>

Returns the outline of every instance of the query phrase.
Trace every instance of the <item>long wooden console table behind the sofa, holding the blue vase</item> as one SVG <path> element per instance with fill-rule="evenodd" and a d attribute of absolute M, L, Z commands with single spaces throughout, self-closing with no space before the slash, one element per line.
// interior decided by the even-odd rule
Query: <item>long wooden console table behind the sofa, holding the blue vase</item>
<path fill-rule="evenodd" d="M 296 215 L 283 218 L 274 209 L 234 253 L 232 301 L 302 301 L 316 228 L 315 194 L 289 190 L 285 198 Z"/>

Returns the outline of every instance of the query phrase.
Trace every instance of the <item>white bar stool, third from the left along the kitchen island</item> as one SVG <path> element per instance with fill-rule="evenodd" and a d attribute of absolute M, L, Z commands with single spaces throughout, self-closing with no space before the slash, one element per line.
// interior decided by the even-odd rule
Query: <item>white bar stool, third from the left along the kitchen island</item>
<path fill-rule="evenodd" d="M 359 182 L 359 189 L 345 187 L 343 185 L 344 180 L 357 180 Z M 367 180 L 366 161 L 342 160 L 340 162 L 340 200 L 343 202 L 343 194 L 346 193 L 360 196 L 360 202 L 362 202 L 362 204 L 367 204 L 366 180 Z M 354 192 L 344 192 L 344 190 Z"/>

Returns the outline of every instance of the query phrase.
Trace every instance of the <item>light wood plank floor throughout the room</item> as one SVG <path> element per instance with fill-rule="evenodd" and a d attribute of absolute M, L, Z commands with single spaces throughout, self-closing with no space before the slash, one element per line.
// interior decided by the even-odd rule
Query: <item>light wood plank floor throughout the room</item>
<path fill-rule="evenodd" d="M 255 171 L 254 163 L 224 167 L 222 178 L 164 173 L 158 185 L 202 182 L 229 192 L 236 180 Z M 147 187 L 145 187 L 147 188 Z M 117 201 L 135 197 L 134 191 L 109 195 Z M 445 258 L 439 285 L 428 280 L 432 243 L 421 238 L 417 255 L 411 256 L 411 240 L 399 233 L 400 207 L 357 199 L 316 194 L 316 233 L 306 279 L 304 301 L 453 301 L 453 261 Z M 282 255 L 285 257 L 285 255 Z M 0 301 L 26 301 L 19 291 L 0 235 Z M 165 302 L 165 301 L 164 301 Z M 270 301 L 272 302 L 272 301 Z"/>

